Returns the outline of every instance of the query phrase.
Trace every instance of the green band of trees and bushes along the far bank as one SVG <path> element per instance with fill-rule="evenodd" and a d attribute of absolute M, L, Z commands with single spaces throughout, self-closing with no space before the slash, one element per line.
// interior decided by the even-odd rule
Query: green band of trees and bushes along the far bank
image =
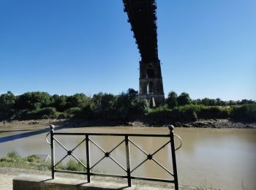
<path fill-rule="evenodd" d="M 74 94 L 53 96 L 47 92 L 26 92 L 15 96 L 11 91 L 0 95 L 0 121 L 40 118 L 82 118 L 86 120 L 132 121 L 196 120 L 197 118 L 236 118 L 256 121 L 256 102 L 191 99 L 189 94 L 171 91 L 165 105 L 150 108 L 138 91 L 129 88 L 118 95 Z"/>

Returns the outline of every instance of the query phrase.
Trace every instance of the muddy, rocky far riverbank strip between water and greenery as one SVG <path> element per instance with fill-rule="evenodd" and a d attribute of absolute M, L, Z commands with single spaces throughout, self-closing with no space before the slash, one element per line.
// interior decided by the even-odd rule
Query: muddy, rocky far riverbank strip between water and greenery
<path fill-rule="evenodd" d="M 256 123 L 236 122 L 230 119 L 207 119 L 193 122 L 149 122 L 149 121 L 130 121 L 130 122 L 104 122 L 104 121 L 83 121 L 75 119 L 39 119 L 27 121 L 6 121 L 0 123 L 0 129 L 42 129 L 50 124 L 56 126 L 128 126 L 128 127 L 159 127 L 173 124 L 175 127 L 185 128 L 214 128 L 214 129 L 256 129 Z"/>

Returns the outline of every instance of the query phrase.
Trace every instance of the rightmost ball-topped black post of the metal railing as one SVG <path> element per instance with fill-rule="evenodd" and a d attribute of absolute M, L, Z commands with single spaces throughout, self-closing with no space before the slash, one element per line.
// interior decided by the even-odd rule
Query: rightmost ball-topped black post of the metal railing
<path fill-rule="evenodd" d="M 171 147 L 172 159 L 173 159 L 174 186 L 175 186 L 175 190 L 178 190 L 178 174 L 177 174 L 176 154 L 175 154 L 174 135 L 173 135 L 174 126 L 170 125 L 168 127 L 170 129 L 170 147 Z"/>

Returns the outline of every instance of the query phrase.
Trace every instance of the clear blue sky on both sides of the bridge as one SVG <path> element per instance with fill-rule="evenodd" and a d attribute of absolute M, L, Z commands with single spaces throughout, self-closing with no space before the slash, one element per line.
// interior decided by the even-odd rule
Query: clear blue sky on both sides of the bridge
<path fill-rule="evenodd" d="M 158 0 L 165 96 L 256 99 L 256 1 Z M 138 90 L 121 0 L 0 0 L 0 94 Z"/>

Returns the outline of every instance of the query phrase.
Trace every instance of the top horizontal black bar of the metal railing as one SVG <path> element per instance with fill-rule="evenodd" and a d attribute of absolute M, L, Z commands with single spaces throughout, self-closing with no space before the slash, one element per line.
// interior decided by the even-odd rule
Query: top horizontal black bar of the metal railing
<path fill-rule="evenodd" d="M 130 136 L 130 137 L 170 137 L 170 134 L 140 134 L 140 133 L 72 133 L 54 132 L 54 135 L 91 135 L 91 136 Z"/>

